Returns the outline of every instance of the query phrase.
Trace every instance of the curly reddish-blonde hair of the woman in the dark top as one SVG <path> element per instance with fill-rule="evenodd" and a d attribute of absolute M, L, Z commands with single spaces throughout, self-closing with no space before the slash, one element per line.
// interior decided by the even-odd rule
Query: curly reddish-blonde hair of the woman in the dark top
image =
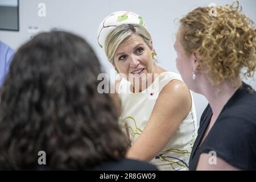
<path fill-rule="evenodd" d="M 180 19 L 180 42 L 187 55 L 196 52 L 199 71 L 212 85 L 239 77 L 252 77 L 256 67 L 256 29 L 253 20 L 241 13 L 238 2 L 216 7 L 198 7 Z M 243 71 L 243 68 L 245 70 Z"/>

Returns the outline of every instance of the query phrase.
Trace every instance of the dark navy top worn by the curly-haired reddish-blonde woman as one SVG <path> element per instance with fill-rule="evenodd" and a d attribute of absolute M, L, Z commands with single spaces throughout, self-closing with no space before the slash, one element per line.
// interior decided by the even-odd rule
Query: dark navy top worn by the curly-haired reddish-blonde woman
<path fill-rule="evenodd" d="M 200 119 L 200 127 L 189 159 L 196 170 L 200 154 L 216 152 L 218 158 L 243 170 L 256 170 L 256 92 L 242 83 L 221 110 L 204 142 L 201 140 L 212 117 L 209 104 Z"/>

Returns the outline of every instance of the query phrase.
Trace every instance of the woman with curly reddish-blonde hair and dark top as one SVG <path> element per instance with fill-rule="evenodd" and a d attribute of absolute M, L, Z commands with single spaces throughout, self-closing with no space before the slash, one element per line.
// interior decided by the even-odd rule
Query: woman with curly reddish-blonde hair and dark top
<path fill-rule="evenodd" d="M 241 81 L 256 68 L 255 24 L 239 4 L 198 7 L 180 20 L 176 65 L 209 105 L 201 116 L 189 169 L 256 169 L 256 93 Z"/>

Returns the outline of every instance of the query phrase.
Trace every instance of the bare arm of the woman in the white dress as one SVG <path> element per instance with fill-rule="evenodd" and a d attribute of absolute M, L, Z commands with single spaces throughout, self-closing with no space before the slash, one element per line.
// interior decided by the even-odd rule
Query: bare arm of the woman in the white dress
<path fill-rule="evenodd" d="M 191 96 L 184 82 L 172 80 L 159 93 L 150 119 L 126 156 L 150 161 L 166 146 L 191 109 Z"/>

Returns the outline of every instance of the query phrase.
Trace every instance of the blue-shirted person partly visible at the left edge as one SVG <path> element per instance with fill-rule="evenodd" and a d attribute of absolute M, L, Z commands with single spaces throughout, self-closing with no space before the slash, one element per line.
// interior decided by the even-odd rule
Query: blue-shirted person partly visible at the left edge
<path fill-rule="evenodd" d="M 0 86 L 3 84 L 13 55 L 14 50 L 0 40 Z"/>

